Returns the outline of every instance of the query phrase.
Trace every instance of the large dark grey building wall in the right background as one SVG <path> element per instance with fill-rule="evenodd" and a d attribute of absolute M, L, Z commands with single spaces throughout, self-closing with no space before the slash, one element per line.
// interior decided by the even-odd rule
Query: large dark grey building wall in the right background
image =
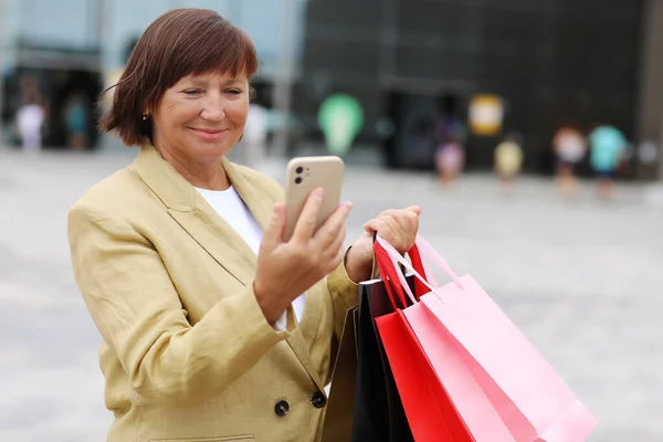
<path fill-rule="evenodd" d="M 642 0 L 312 0 L 301 86 L 324 76 L 330 90 L 370 101 L 367 139 L 377 118 L 397 115 L 389 103 L 412 103 L 394 94 L 460 102 L 501 94 L 505 130 L 524 134 L 529 169 L 545 169 L 562 120 L 608 122 L 633 135 L 642 8 Z M 459 82 L 465 88 L 446 86 Z M 295 102 L 303 113 L 315 107 Z M 476 144 L 474 166 L 492 161 L 486 143 Z"/>

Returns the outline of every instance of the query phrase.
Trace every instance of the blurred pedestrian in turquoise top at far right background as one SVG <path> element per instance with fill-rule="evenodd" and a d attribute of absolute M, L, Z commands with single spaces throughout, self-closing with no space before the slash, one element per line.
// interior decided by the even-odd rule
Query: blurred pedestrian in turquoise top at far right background
<path fill-rule="evenodd" d="M 602 199 L 612 197 L 614 177 L 627 151 L 627 138 L 617 127 L 597 126 L 589 135 L 590 164 L 598 181 L 598 194 Z"/>

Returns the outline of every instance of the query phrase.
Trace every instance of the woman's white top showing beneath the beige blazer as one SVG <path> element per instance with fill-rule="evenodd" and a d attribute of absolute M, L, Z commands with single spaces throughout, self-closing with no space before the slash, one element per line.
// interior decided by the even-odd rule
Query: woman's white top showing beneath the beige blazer
<path fill-rule="evenodd" d="M 219 217 L 234 229 L 246 244 L 251 248 L 253 253 L 257 255 L 260 250 L 260 242 L 262 241 L 263 231 L 253 213 L 249 210 L 244 201 L 240 198 L 239 193 L 231 186 L 228 190 L 209 190 L 196 188 L 198 192 L 206 199 L 206 201 L 217 211 Z M 304 294 L 297 296 L 293 301 L 293 308 L 297 320 L 302 318 L 304 312 Z M 285 330 L 287 328 L 287 317 L 285 312 L 278 320 L 274 324 L 274 328 L 277 330 Z"/>

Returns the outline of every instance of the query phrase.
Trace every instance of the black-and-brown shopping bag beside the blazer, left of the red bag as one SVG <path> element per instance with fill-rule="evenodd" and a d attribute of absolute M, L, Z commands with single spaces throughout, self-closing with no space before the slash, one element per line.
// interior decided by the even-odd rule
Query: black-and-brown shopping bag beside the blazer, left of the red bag
<path fill-rule="evenodd" d="M 419 263 L 420 259 L 417 259 L 414 262 Z M 373 278 L 359 285 L 359 305 L 346 314 L 323 427 L 323 442 L 412 440 L 389 364 L 376 334 L 373 317 L 396 308 L 386 296 L 377 270 L 373 261 Z M 413 287 L 420 284 L 412 276 L 407 276 L 406 281 Z M 404 298 L 401 302 L 406 303 Z"/>

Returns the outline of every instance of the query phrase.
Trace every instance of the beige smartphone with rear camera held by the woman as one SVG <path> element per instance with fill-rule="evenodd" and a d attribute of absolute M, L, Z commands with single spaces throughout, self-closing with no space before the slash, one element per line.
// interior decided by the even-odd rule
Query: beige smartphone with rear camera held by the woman
<path fill-rule="evenodd" d="M 298 157 L 293 158 L 285 172 L 285 230 L 283 240 L 288 241 L 295 230 L 299 213 L 306 203 L 311 192 L 320 187 L 325 190 L 325 197 L 318 219 L 316 231 L 327 218 L 336 211 L 340 204 L 340 192 L 343 188 L 343 159 L 336 156 Z"/>

